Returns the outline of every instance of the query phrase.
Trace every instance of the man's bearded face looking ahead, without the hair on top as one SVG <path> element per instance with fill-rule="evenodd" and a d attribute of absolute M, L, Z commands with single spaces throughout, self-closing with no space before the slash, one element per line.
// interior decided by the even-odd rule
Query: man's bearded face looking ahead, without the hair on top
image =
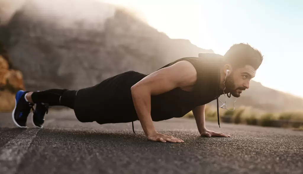
<path fill-rule="evenodd" d="M 243 68 L 234 69 L 226 77 L 225 81 L 225 93 L 230 92 L 234 97 L 240 97 L 242 91 L 249 88 L 250 81 L 255 77 L 256 70 L 246 65 Z"/>

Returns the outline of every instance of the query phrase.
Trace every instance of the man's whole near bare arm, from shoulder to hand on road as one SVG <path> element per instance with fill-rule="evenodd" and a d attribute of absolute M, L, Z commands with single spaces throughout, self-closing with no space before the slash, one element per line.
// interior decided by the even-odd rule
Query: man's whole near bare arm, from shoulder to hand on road
<path fill-rule="evenodd" d="M 197 72 L 194 66 L 188 61 L 180 61 L 151 73 L 132 86 L 134 106 L 149 140 L 178 142 L 178 139 L 156 132 L 151 119 L 151 95 L 168 92 L 177 87 L 193 86 L 196 79 Z"/>

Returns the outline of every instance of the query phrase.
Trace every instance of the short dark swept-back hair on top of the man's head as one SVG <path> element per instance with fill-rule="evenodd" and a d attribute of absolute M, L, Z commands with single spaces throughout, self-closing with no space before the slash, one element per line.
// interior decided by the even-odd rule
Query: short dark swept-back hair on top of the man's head
<path fill-rule="evenodd" d="M 251 65 L 258 69 L 263 61 L 263 55 L 257 49 L 249 44 L 234 44 L 224 55 L 225 63 L 231 64 L 236 68 L 242 68 L 245 65 Z"/>

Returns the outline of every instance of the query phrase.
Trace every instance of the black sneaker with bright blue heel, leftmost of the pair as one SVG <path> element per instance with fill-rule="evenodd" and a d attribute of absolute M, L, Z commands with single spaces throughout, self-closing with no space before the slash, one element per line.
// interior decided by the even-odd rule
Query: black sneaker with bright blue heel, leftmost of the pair
<path fill-rule="evenodd" d="M 24 98 L 28 91 L 19 90 L 15 97 L 15 108 L 12 112 L 12 119 L 20 128 L 27 128 L 26 121 L 28 114 L 34 110 L 34 104 L 27 102 Z"/>

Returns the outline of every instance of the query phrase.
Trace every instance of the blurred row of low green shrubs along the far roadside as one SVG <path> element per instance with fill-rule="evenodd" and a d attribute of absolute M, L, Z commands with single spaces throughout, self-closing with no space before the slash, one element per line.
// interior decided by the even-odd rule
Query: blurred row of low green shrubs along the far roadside
<path fill-rule="evenodd" d="M 229 110 L 220 109 L 219 117 L 221 122 L 259 125 L 265 127 L 285 127 L 294 128 L 295 130 L 303 130 L 303 113 L 267 113 L 253 111 L 251 108 L 244 107 L 235 110 L 231 108 Z M 185 117 L 194 118 L 194 115 L 191 111 L 188 112 Z M 205 119 L 208 121 L 217 121 L 217 109 L 215 107 L 206 107 Z"/>

